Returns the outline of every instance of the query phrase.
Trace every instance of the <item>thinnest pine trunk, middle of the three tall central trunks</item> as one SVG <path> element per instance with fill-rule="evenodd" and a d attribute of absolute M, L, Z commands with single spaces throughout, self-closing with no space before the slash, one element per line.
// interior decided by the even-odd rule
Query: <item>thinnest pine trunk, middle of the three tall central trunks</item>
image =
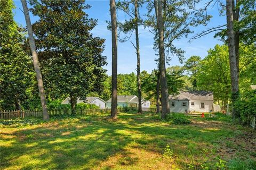
<path fill-rule="evenodd" d="M 134 0 L 134 15 L 135 15 L 135 37 L 136 37 L 136 54 L 137 54 L 137 86 L 139 107 L 138 113 L 142 113 L 141 103 L 141 82 L 140 82 L 140 46 L 139 46 L 139 30 L 138 30 L 138 1 Z"/>

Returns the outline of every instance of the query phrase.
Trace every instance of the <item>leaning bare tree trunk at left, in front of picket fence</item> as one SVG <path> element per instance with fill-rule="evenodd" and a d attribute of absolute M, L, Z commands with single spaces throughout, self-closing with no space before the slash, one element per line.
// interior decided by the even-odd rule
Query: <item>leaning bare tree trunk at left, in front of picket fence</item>
<path fill-rule="evenodd" d="M 33 30 L 32 30 L 31 21 L 29 18 L 28 6 L 27 6 L 26 0 L 21 0 L 21 3 L 23 6 L 23 11 L 24 11 L 24 15 L 25 15 L 26 23 L 27 23 L 29 46 L 31 49 L 33 63 L 34 63 L 34 69 L 36 72 L 36 79 L 37 79 L 37 83 L 38 83 L 41 105 L 42 105 L 42 109 L 43 109 L 43 119 L 49 120 L 49 114 L 47 112 L 47 106 L 46 106 L 46 100 L 45 100 L 45 94 L 44 94 L 43 78 L 42 78 L 42 74 L 41 74 L 41 70 L 40 70 L 39 62 L 38 62 L 38 57 L 37 57 L 37 53 L 36 53 L 35 39 L 33 37 Z"/>

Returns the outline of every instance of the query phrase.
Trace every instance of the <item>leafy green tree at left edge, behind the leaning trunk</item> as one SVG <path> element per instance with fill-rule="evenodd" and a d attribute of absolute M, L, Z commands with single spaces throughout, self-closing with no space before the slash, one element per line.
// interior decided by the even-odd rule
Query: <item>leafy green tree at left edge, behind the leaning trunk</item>
<path fill-rule="evenodd" d="M 32 60 L 22 49 L 25 37 L 13 20 L 13 8 L 13 1 L 0 1 L 0 109 L 21 109 L 35 83 Z"/>

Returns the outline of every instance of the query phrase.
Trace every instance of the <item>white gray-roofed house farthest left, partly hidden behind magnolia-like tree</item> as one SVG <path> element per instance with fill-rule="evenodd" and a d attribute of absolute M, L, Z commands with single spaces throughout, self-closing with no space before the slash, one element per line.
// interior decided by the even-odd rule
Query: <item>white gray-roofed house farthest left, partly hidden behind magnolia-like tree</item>
<path fill-rule="evenodd" d="M 69 104 L 70 103 L 70 98 L 67 97 L 65 100 L 61 102 L 61 104 Z M 77 103 L 87 103 L 87 104 L 94 104 L 99 106 L 100 108 L 106 108 L 106 101 L 99 97 L 86 97 L 86 100 L 80 100 L 79 98 L 77 99 Z"/>

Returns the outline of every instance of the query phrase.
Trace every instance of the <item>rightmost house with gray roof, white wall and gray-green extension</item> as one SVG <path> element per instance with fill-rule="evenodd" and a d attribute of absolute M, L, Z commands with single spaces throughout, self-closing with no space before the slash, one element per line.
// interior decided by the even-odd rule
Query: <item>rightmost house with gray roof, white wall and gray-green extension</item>
<path fill-rule="evenodd" d="M 213 112 L 213 94 L 209 91 L 183 91 L 169 96 L 170 112 Z"/>

